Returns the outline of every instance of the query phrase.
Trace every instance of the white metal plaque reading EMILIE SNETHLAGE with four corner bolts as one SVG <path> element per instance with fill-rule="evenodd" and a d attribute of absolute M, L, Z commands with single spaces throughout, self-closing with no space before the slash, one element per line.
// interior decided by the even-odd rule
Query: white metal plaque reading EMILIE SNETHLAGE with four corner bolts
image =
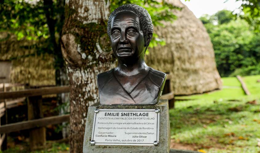
<path fill-rule="evenodd" d="M 91 145 L 159 145 L 159 109 L 96 109 Z"/>

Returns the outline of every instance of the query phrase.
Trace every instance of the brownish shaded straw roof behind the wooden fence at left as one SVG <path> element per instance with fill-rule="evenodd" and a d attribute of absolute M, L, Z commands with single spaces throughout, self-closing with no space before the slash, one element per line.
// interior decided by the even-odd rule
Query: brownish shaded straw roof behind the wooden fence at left
<path fill-rule="evenodd" d="M 38 86 L 55 85 L 53 57 L 49 54 L 33 55 L 34 48 L 25 48 L 34 42 L 17 40 L 15 35 L 0 33 L 0 61 L 11 61 L 10 82 Z M 30 56 L 28 56 L 30 55 Z"/>

